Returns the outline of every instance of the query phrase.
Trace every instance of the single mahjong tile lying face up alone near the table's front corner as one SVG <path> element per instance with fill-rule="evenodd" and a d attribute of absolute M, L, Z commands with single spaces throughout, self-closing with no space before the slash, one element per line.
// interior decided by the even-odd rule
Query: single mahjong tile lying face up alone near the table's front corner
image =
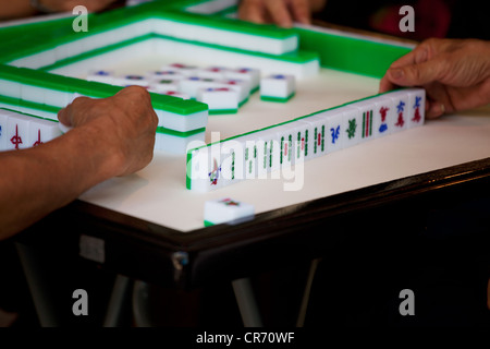
<path fill-rule="evenodd" d="M 230 197 L 207 201 L 204 208 L 204 220 L 210 224 L 222 224 L 236 219 L 253 217 L 255 206 Z"/>

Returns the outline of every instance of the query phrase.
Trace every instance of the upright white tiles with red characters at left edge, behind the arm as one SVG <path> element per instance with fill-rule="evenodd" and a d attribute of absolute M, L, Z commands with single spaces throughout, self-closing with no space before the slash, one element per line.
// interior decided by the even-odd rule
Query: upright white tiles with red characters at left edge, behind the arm
<path fill-rule="evenodd" d="M 0 152 L 38 146 L 59 135 L 57 121 L 0 108 Z"/>

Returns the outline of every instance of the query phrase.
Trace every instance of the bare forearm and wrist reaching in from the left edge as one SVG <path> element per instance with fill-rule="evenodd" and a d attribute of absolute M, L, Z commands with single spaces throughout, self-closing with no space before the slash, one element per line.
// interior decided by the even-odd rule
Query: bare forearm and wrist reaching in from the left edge
<path fill-rule="evenodd" d="M 35 148 L 0 153 L 0 240 L 114 176 L 117 158 L 105 148 L 96 132 L 81 128 Z"/>

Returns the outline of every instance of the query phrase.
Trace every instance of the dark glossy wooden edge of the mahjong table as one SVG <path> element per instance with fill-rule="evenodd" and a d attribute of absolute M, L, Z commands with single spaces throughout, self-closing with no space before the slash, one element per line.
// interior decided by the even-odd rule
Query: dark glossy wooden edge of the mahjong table
<path fill-rule="evenodd" d="M 212 276 L 213 269 L 219 274 L 223 265 L 230 272 L 235 263 L 246 263 L 249 253 L 256 265 L 264 264 L 261 257 L 268 262 L 279 260 L 280 251 L 267 252 L 271 243 L 289 241 L 291 248 L 294 237 L 304 236 L 309 228 L 315 230 L 317 221 L 458 188 L 477 194 L 478 188 L 490 188 L 489 183 L 490 158 L 486 158 L 258 214 L 248 221 L 191 232 L 75 201 L 13 239 L 78 255 L 79 237 L 95 237 L 105 241 L 106 260 L 98 263 L 101 266 L 135 278 L 189 288 L 205 282 L 205 276 Z M 473 189 L 464 190 L 467 184 Z M 313 234 L 315 231 L 308 233 Z M 308 257 L 316 257 L 314 254 Z M 245 276 L 246 268 L 235 269 L 230 278 Z"/>

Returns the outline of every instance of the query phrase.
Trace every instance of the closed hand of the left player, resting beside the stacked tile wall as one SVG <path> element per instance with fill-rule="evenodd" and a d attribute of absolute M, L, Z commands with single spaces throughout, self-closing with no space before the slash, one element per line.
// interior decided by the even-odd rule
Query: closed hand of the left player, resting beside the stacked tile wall
<path fill-rule="evenodd" d="M 78 97 L 60 110 L 61 123 L 87 142 L 91 152 L 107 156 L 107 178 L 133 173 L 147 166 L 154 154 L 158 117 L 148 92 L 138 86 L 109 98 Z"/>

